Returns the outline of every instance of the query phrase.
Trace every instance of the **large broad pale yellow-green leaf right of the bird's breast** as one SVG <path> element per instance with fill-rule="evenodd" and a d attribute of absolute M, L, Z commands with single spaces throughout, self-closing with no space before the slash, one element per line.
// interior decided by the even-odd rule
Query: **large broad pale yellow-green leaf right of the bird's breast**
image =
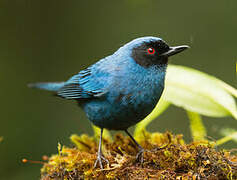
<path fill-rule="evenodd" d="M 227 90 L 228 89 L 228 90 Z M 176 106 L 206 116 L 237 119 L 236 90 L 216 78 L 192 68 L 169 65 L 164 99 Z"/>

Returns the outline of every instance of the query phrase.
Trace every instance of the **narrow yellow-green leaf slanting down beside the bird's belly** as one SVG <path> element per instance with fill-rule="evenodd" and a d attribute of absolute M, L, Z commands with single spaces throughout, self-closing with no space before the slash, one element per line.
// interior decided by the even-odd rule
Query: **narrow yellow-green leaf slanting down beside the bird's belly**
<path fill-rule="evenodd" d="M 169 105 L 170 103 L 162 96 L 154 110 L 144 120 L 136 125 L 134 130 L 135 139 L 140 139 L 141 135 L 143 134 L 142 131 L 146 129 L 147 125 L 150 124 L 151 121 L 157 118 L 160 114 L 162 114 L 169 107 Z"/>

